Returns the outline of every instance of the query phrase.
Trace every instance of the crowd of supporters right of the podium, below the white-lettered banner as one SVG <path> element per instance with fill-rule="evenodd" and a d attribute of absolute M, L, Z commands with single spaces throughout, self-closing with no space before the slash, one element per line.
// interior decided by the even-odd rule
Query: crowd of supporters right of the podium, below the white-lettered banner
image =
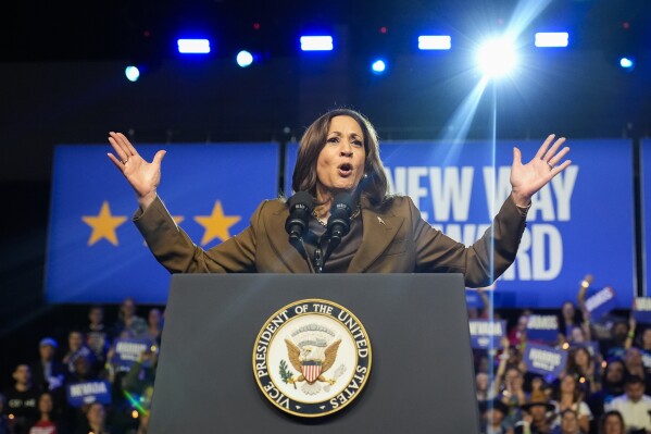
<path fill-rule="evenodd" d="M 591 321 L 585 305 L 589 281 L 576 303 L 560 309 L 558 339 L 546 343 L 567 354 L 560 374 L 530 372 L 525 363 L 525 348 L 537 344 L 527 338 L 528 310 L 500 349 L 475 350 L 481 433 L 651 433 L 651 326 L 638 326 L 633 312 Z"/>

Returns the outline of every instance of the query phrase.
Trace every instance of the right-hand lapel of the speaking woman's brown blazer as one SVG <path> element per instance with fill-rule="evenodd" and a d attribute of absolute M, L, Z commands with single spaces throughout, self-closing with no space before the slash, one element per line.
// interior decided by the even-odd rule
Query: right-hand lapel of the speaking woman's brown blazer
<path fill-rule="evenodd" d="M 362 246 L 348 266 L 349 273 L 365 272 L 391 244 L 404 218 L 380 214 L 362 206 Z"/>

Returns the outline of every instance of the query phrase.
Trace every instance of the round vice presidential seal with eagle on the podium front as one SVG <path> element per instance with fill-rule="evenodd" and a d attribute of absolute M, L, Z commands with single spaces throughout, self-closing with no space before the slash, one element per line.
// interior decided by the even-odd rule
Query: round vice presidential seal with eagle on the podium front
<path fill-rule="evenodd" d="M 295 301 L 274 313 L 253 346 L 253 373 L 264 396 L 304 418 L 334 413 L 355 399 L 371 372 L 371 342 L 345 307 Z"/>

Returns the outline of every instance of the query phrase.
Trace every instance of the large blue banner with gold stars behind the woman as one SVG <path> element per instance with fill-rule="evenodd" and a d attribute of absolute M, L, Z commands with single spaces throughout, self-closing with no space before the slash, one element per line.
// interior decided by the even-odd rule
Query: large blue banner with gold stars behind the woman
<path fill-rule="evenodd" d="M 263 199 L 278 195 L 276 144 L 146 145 L 163 160 L 159 195 L 195 244 L 211 248 L 238 234 Z M 130 222 L 134 191 L 105 146 L 58 146 L 47 253 L 50 302 L 164 303 L 170 275 Z"/>

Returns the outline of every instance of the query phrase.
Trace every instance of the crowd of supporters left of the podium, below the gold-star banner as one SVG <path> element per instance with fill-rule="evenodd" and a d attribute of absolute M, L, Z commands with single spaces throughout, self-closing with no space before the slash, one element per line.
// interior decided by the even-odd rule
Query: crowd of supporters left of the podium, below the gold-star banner
<path fill-rule="evenodd" d="M 0 434 L 147 433 L 162 330 L 160 309 L 143 319 L 126 298 L 114 324 L 93 306 L 66 343 L 43 336 L 34 344 L 36 360 L 15 365 L 13 386 L 0 395 Z M 116 357 L 125 342 L 142 348 L 133 360 Z"/>

